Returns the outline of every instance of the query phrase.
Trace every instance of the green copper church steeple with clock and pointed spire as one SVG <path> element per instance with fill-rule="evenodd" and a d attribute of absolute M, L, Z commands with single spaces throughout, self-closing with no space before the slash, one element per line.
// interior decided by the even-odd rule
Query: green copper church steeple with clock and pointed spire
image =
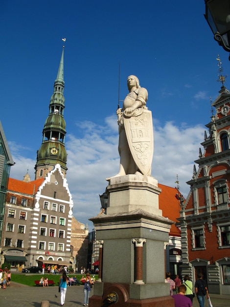
<path fill-rule="evenodd" d="M 66 122 L 64 120 L 64 47 L 57 78 L 54 81 L 53 95 L 49 103 L 49 115 L 43 128 L 43 142 L 37 152 L 35 179 L 45 178 L 55 164 L 59 163 L 64 176 L 67 171 L 65 148 Z"/>

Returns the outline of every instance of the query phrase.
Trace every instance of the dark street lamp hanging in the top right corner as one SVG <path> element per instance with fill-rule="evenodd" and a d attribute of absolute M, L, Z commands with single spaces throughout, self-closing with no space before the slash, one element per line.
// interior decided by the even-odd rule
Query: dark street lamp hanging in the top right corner
<path fill-rule="evenodd" d="M 205 19 L 214 34 L 214 39 L 225 51 L 230 51 L 230 1 L 205 0 L 205 4 Z"/>

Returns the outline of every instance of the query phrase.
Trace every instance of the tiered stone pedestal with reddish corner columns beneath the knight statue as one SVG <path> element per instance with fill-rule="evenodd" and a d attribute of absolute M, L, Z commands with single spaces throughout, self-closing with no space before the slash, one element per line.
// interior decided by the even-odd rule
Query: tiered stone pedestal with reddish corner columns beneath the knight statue
<path fill-rule="evenodd" d="M 162 217 L 157 180 L 126 175 L 109 183 L 105 214 L 90 219 L 103 246 L 90 306 L 111 305 L 107 296 L 114 293 L 117 307 L 174 307 L 164 282 L 164 242 L 173 222 Z"/>

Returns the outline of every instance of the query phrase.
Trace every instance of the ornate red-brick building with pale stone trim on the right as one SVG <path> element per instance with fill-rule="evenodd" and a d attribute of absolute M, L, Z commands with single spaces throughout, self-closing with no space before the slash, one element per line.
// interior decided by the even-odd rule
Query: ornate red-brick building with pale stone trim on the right
<path fill-rule="evenodd" d="M 187 182 L 190 192 L 180 212 L 182 274 L 194 282 L 197 273 L 209 293 L 230 294 L 230 91 L 223 85 L 212 103 L 198 171 Z M 215 113 L 215 115 L 214 115 Z"/>

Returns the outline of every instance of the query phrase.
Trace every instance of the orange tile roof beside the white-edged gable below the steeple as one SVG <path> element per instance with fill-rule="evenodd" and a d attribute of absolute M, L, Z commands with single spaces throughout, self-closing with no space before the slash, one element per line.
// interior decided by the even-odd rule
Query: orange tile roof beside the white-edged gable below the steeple
<path fill-rule="evenodd" d="M 34 195 L 44 179 L 37 179 L 30 182 L 25 182 L 18 179 L 9 178 L 8 191 L 19 192 L 28 195 Z"/>

